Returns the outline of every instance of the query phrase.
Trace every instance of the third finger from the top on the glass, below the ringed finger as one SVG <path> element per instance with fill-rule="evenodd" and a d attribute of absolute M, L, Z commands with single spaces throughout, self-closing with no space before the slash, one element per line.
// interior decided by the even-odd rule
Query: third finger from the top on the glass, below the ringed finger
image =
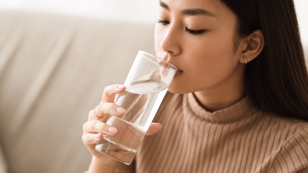
<path fill-rule="evenodd" d="M 117 134 L 118 129 L 108 124 L 105 124 L 99 120 L 93 120 L 83 124 L 83 132 L 102 133 L 103 135 L 112 137 Z"/>

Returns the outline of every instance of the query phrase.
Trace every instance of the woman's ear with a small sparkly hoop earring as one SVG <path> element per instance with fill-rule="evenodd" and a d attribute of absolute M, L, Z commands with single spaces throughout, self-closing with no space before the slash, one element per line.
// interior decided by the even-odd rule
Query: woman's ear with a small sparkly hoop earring
<path fill-rule="evenodd" d="M 248 37 L 241 40 L 241 56 L 239 61 L 245 64 L 244 57 L 247 62 L 252 61 L 256 58 L 264 48 L 263 33 L 260 29 L 255 30 Z"/>

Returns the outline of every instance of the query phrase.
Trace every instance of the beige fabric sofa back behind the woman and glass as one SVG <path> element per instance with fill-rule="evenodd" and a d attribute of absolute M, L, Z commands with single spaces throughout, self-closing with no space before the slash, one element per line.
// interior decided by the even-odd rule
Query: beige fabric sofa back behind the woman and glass
<path fill-rule="evenodd" d="M 107 85 L 124 83 L 138 50 L 155 53 L 154 25 L 0 11 L 0 146 L 9 172 L 87 170 L 88 112 Z"/>

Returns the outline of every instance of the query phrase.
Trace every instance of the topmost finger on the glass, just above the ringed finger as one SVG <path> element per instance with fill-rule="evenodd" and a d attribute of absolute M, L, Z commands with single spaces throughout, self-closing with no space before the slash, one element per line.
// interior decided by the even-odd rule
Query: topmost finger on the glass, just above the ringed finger
<path fill-rule="evenodd" d="M 115 94 L 120 94 L 125 91 L 124 85 L 109 85 L 104 89 L 102 102 L 111 102 L 115 100 Z"/>

